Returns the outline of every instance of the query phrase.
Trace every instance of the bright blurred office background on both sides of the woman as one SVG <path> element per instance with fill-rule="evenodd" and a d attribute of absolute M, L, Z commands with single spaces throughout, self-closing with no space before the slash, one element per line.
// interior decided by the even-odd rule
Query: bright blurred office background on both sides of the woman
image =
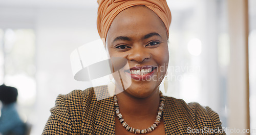
<path fill-rule="evenodd" d="M 167 3 L 165 95 L 211 107 L 223 127 L 256 130 L 256 1 Z M 97 7 L 96 0 L 0 0 L 0 84 L 17 87 L 32 135 L 42 132 L 58 94 L 91 86 L 74 80 L 70 54 L 99 39 Z"/>

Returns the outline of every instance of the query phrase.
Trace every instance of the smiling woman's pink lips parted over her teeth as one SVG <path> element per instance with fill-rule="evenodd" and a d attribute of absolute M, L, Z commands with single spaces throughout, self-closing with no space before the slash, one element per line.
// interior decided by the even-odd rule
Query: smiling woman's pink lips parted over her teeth
<path fill-rule="evenodd" d="M 130 74 L 130 70 L 142 70 L 142 69 L 148 69 L 148 68 L 152 68 L 153 71 L 151 73 L 145 74 L 145 75 L 135 75 L 135 74 Z M 145 81 L 150 79 L 153 74 L 155 73 L 157 69 L 157 66 L 153 66 L 153 65 L 143 65 L 143 66 L 134 66 L 133 68 L 129 69 L 129 70 L 125 70 L 125 73 L 129 76 L 131 76 L 131 78 L 138 80 L 138 81 Z"/>

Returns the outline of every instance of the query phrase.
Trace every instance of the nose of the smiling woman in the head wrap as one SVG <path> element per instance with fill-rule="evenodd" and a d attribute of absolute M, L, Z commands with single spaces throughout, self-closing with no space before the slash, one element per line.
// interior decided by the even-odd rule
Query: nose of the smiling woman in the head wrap
<path fill-rule="evenodd" d="M 137 61 L 139 63 L 150 58 L 151 58 L 150 52 L 148 52 L 148 50 L 143 46 L 132 48 L 130 50 L 130 54 L 127 56 L 127 59 L 129 61 Z"/>

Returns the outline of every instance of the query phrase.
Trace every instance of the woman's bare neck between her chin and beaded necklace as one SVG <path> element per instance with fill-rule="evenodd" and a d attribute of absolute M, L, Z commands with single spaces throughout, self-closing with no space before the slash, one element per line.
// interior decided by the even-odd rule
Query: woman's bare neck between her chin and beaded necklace
<path fill-rule="evenodd" d="M 155 117 L 159 108 L 159 94 L 159 88 L 146 98 L 133 97 L 124 91 L 117 95 L 120 112 L 133 118 Z"/>

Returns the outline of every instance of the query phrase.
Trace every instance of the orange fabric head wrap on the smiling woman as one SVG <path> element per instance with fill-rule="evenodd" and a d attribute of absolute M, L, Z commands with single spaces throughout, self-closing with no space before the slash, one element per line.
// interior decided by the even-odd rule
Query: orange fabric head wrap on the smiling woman
<path fill-rule="evenodd" d="M 166 0 L 98 0 L 97 28 L 101 38 L 106 40 L 106 34 L 112 24 L 112 21 L 118 13 L 124 9 L 144 5 L 154 11 L 165 25 L 167 35 L 169 36 L 169 26 L 172 16 Z"/>

